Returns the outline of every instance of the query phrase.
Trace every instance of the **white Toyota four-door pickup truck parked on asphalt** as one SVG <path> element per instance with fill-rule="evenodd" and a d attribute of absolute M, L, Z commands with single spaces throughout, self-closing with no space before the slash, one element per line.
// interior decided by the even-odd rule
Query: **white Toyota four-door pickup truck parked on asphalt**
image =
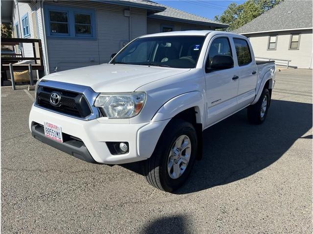
<path fill-rule="evenodd" d="M 247 108 L 268 113 L 276 67 L 249 40 L 221 31 L 141 36 L 108 64 L 52 73 L 36 84 L 32 136 L 98 164 L 143 161 L 148 182 L 173 191 L 202 155 L 202 131 Z"/>

